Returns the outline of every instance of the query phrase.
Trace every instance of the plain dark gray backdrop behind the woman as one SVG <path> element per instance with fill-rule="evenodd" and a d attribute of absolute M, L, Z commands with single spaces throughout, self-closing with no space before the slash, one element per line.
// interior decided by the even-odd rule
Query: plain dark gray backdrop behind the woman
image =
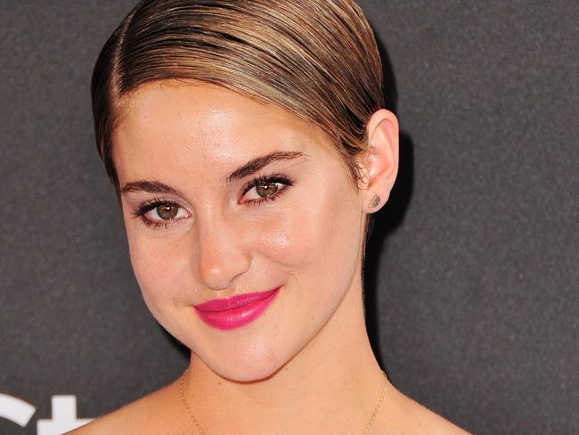
<path fill-rule="evenodd" d="M 134 3 L 0 2 L 0 393 L 36 407 L 3 434 L 37 433 L 55 395 L 94 417 L 186 365 L 94 151 L 91 70 Z M 404 130 L 368 254 L 380 360 L 469 431 L 579 433 L 579 4 L 360 3 Z"/>

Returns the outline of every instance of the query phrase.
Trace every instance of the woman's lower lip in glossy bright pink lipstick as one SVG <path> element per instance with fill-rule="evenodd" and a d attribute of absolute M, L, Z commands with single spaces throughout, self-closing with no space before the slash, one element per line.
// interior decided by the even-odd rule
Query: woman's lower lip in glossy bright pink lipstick
<path fill-rule="evenodd" d="M 202 308 L 195 308 L 195 311 L 197 311 L 201 320 L 209 326 L 229 331 L 241 328 L 241 326 L 257 320 L 259 316 L 265 313 L 265 310 L 273 300 L 275 300 L 279 292 L 279 288 L 273 291 L 264 291 L 263 299 L 255 300 L 237 308 L 224 309 L 222 311 L 208 311 Z"/>

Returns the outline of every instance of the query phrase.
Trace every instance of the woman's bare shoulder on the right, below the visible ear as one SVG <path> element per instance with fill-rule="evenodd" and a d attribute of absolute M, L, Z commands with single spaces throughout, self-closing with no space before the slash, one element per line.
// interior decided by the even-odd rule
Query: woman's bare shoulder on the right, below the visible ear
<path fill-rule="evenodd" d="M 381 425 L 387 433 L 423 434 L 432 435 L 468 435 L 459 426 L 449 422 L 442 416 L 430 411 L 426 406 L 405 396 L 392 387 L 388 391 L 389 406 L 383 413 L 384 424 Z"/>

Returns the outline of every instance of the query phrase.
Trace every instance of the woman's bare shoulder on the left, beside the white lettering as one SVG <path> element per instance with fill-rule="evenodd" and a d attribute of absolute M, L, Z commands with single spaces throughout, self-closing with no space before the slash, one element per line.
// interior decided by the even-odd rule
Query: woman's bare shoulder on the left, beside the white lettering
<path fill-rule="evenodd" d="M 67 435 L 181 433 L 178 394 L 174 382 Z"/>

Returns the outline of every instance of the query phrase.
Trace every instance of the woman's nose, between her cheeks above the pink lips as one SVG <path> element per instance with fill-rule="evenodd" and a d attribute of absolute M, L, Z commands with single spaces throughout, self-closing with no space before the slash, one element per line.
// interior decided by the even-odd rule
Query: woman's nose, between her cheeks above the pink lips
<path fill-rule="evenodd" d="M 249 270 L 251 256 L 244 242 L 245 230 L 224 218 L 198 220 L 198 281 L 210 290 L 225 290 Z"/>

